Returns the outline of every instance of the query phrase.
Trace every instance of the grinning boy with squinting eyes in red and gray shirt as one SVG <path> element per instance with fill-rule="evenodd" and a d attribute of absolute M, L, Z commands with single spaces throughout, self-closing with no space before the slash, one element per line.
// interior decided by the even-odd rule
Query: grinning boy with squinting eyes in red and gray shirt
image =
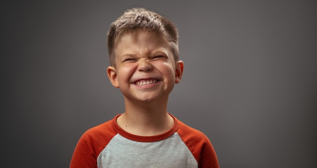
<path fill-rule="evenodd" d="M 134 8 L 111 24 L 107 43 L 125 112 L 84 133 L 70 167 L 219 167 L 209 139 L 167 112 L 184 67 L 175 25 Z"/>

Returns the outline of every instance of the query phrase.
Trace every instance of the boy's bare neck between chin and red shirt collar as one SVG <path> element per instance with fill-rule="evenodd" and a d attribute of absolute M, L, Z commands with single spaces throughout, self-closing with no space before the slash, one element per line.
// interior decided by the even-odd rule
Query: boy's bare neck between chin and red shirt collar
<path fill-rule="evenodd" d="M 172 128 L 173 118 L 167 112 L 165 103 L 131 103 L 125 100 L 126 111 L 117 118 L 118 125 L 130 134 L 154 136 Z"/>

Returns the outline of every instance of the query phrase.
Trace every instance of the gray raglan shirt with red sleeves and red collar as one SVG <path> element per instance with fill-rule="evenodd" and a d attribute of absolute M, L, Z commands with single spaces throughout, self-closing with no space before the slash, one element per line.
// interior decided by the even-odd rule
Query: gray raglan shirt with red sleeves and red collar
<path fill-rule="evenodd" d="M 156 136 L 129 134 L 112 120 L 86 131 L 70 167 L 219 167 L 209 139 L 176 117 L 173 127 Z"/>

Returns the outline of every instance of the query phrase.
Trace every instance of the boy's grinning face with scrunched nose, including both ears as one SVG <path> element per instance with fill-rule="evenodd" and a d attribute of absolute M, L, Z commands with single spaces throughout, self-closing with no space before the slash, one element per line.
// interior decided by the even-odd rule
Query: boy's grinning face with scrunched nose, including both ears
<path fill-rule="evenodd" d="M 167 100 L 181 79 L 183 62 L 175 63 L 171 46 L 163 35 L 128 33 L 115 52 L 115 68 L 108 67 L 108 77 L 130 101 Z"/>

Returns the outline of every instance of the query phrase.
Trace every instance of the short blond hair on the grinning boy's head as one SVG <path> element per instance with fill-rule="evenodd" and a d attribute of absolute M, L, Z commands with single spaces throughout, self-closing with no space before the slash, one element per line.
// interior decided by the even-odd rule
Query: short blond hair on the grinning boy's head
<path fill-rule="evenodd" d="M 175 24 L 155 12 L 143 8 L 133 8 L 125 11 L 123 15 L 110 25 L 107 33 L 107 45 L 111 66 L 115 66 L 115 46 L 121 37 L 127 33 L 142 30 L 164 35 L 172 43 L 171 49 L 174 60 L 175 62 L 178 61 L 178 31 Z"/>

